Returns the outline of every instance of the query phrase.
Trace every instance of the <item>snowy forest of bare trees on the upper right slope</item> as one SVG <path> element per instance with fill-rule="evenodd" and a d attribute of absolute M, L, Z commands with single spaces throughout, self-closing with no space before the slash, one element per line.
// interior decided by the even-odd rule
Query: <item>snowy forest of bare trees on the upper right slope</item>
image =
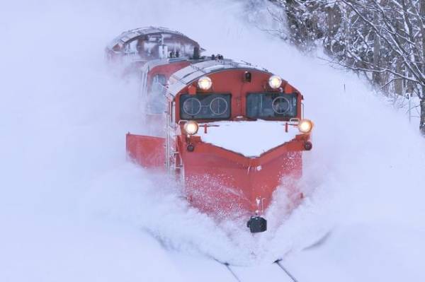
<path fill-rule="evenodd" d="M 329 63 L 363 75 L 384 95 L 419 98 L 425 134 L 424 0 L 270 0 L 287 23 L 280 36 L 303 52 L 323 47 Z"/>

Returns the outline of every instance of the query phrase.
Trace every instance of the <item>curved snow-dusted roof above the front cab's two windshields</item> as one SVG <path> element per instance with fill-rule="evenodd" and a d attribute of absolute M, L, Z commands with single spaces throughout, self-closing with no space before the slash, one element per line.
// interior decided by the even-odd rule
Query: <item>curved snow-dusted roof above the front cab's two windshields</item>
<path fill-rule="evenodd" d="M 246 63 L 245 61 L 233 61 L 231 59 L 207 59 L 198 61 L 195 64 L 191 64 L 186 66 L 186 68 L 176 71 L 170 77 L 169 92 L 172 95 L 176 95 L 182 88 L 201 76 L 229 69 L 254 69 L 270 73 L 267 69 L 254 66 Z"/>

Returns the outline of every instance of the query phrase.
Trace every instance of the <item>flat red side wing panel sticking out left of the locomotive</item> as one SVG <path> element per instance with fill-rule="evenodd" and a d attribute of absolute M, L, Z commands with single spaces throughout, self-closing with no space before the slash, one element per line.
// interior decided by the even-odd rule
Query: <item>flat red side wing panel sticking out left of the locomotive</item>
<path fill-rule="evenodd" d="M 164 138 L 128 133 L 125 139 L 127 152 L 132 160 L 143 168 L 164 170 Z"/>

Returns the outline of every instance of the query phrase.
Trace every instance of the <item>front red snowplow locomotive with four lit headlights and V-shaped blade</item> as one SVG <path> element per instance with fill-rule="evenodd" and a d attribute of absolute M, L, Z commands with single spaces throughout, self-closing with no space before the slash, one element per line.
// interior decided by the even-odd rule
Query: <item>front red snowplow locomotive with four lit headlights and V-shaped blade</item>
<path fill-rule="evenodd" d="M 248 216 L 252 233 L 265 231 L 273 192 L 283 177 L 302 175 L 313 124 L 302 118 L 300 91 L 279 76 L 199 50 L 140 67 L 147 117 L 162 130 L 127 134 L 128 154 L 145 168 L 173 172 L 200 211 Z M 302 199 L 297 187 L 285 189 L 294 202 Z"/>

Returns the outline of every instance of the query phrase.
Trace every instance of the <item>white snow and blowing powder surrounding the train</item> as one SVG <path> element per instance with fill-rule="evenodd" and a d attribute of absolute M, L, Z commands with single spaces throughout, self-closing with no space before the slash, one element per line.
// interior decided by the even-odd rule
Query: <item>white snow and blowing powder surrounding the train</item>
<path fill-rule="evenodd" d="M 256 28 L 269 24 L 263 6 L 250 16 L 245 8 L 225 0 L 2 4 L 0 281 L 232 281 L 211 257 L 247 273 L 283 258 L 299 281 L 425 280 L 424 139 L 356 76 Z M 145 25 L 264 66 L 303 93 L 315 124 L 302 181 L 311 193 L 290 218 L 276 193 L 268 232 L 217 226 L 166 177 L 125 160 L 125 133 L 145 130 L 137 83 L 108 71 L 103 47 Z M 304 249 L 328 230 L 322 245 Z"/>

